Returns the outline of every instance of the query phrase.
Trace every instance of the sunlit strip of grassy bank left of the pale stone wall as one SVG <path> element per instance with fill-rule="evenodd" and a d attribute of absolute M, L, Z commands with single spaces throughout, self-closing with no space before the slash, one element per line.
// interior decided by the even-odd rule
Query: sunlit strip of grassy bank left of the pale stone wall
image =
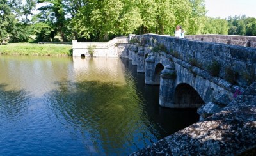
<path fill-rule="evenodd" d="M 69 56 L 72 45 L 9 43 L 0 45 L 0 54 L 39 55 L 39 56 Z"/>

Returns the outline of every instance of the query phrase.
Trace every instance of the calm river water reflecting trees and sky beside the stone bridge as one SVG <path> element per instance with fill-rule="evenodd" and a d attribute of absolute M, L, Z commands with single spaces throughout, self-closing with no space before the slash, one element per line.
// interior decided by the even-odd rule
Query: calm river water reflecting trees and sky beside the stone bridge
<path fill-rule="evenodd" d="M 0 155 L 127 155 L 198 121 L 128 59 L 0 56 Z"/>

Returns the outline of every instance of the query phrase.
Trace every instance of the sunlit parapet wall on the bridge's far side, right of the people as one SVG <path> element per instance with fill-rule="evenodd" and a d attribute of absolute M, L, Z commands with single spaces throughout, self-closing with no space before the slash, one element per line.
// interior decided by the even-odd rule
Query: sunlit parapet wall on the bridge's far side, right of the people
<path fill-rule="evenodd" d="M 187 35 L 185 38 L 191 40 L 201 40 L 205 42 L 225 43 L 230 45 L 240 45 L 243 47 L 256 48 L 256 36 L 237 36 L 237 35 Z"/>

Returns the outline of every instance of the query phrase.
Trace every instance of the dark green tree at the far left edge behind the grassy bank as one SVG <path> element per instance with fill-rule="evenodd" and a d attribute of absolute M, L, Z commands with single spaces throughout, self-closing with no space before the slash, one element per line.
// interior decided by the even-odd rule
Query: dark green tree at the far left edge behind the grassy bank
<path fill-rule="evenodd" d="M 0 1 L 0 42 L 8 39 L 10 42 L 27 42 L 29 40 L 28 15 L 31 15 L 31 10 L 34 7 L 34 0 L 28 0 L 24 4 L 21 0 Z"/>

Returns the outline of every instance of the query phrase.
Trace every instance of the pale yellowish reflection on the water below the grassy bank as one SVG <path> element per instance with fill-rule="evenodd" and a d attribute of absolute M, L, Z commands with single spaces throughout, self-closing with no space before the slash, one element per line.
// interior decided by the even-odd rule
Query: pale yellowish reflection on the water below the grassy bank
<path fill-rule="evenodd" d="M 8 84 L 5 90 L 24 90 L 36 97 L 56 88 L 52 81 L 72 75 L 70 58 L 1 56 L 0 63 L 0 83 Z"/>

